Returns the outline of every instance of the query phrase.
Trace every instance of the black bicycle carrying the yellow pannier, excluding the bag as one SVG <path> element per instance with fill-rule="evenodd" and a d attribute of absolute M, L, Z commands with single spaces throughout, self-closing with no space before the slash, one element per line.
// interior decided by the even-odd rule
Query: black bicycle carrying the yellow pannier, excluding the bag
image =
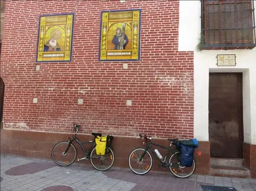
<path fill-rule="evenodd" d="M 73 145 L 73 141 L 75 140 L 77 144 L 81 147 L 85 157 L 78 158 L 77 161 L 86 159 L 90 160 L 92 166 L 99 171 L 107 171 L 114 164 L 114 152 L 110 148 L 110 146 L 106 147 L 105 155 L 97 155 L 95 150 L 95 138 L 97 136 L 102 136 L 101 133 L 92 133 L 94 136 L 93 140 L 81 142 L 76 134 L 80 129 L 80 125 L 73 125 L 73 137 L 68 137 L 68 141 L 58 142 L 52 149 L 52 159 L 53 161 L 60 166 L 68 166 L 72 164 L 77 157 L 77 150 Z M 110 136 L 110 139 L 113 137 Z M 111 140 L 110 140 L 111 141 Z M 88 150 L 86 151 L 85 147 L 88 146 Z"/>

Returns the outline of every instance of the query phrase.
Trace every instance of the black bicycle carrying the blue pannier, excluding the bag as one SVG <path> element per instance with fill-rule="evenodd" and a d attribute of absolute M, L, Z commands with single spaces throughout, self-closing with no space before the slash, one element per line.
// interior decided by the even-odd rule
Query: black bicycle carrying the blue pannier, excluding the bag
<path fill-rule="evenodd" d="M 134 149 L 128 158 L 129 167 L 135 174 L 145 175 L 147 174 L 153 166 L 153 159 L 151 154 L 148 152 L 148 149 L 156 156 L 156 158 L 161 162 L 161 167 L 169 167 L 171 173 L 178 178 L 187 178 L 191 176 L 195 171 L 195 160 L 191 167 L 182 166 L 180 163 L 180 152 L 178 149 L 171 149 L 172 145 L 177 145 L 178 139 L 170 139 L 170 146 L 164 147 L 159 144 L 151 142 L 151 137 L 146 135 L 139 135 L 143 141 L 143 145 L 147 144 L 146 148 L 136 148 Z M 166 156 L 162 156 L 161 153 L 155 149 L 153 150 L 150 145 L 161 147 L 167 150 Z M 171 152 L 171 157 L 168 161 L 169 153 Z M 159 166 L 159 167 L 160 167 Z"/>

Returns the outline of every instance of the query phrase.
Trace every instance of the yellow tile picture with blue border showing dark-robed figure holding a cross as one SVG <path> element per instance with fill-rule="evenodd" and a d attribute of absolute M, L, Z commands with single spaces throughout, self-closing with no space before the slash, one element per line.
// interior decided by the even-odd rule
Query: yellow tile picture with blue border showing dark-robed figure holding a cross
<path fill-rule="evenodd" d="M 140 60 L 141 10 L 101 12 L 99 60 Z"/>

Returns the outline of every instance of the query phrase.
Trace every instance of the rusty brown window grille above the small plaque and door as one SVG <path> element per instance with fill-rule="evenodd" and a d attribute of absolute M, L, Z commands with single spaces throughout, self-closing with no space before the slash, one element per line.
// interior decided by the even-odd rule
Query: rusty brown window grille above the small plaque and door
<path fill-rule="evenodd" d="M 252 0 L 203 0 L 203 47 L 250 47 L 255 44 Z"/>

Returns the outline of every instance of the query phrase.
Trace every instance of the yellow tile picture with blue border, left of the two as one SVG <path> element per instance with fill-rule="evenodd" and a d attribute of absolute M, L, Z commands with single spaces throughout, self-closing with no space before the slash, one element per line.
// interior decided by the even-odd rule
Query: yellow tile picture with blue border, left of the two
<path fill-rule="evenodd" d="M 73 13 L 40 16 L 36 61 L 71 61 L 73 25 Z"/>

